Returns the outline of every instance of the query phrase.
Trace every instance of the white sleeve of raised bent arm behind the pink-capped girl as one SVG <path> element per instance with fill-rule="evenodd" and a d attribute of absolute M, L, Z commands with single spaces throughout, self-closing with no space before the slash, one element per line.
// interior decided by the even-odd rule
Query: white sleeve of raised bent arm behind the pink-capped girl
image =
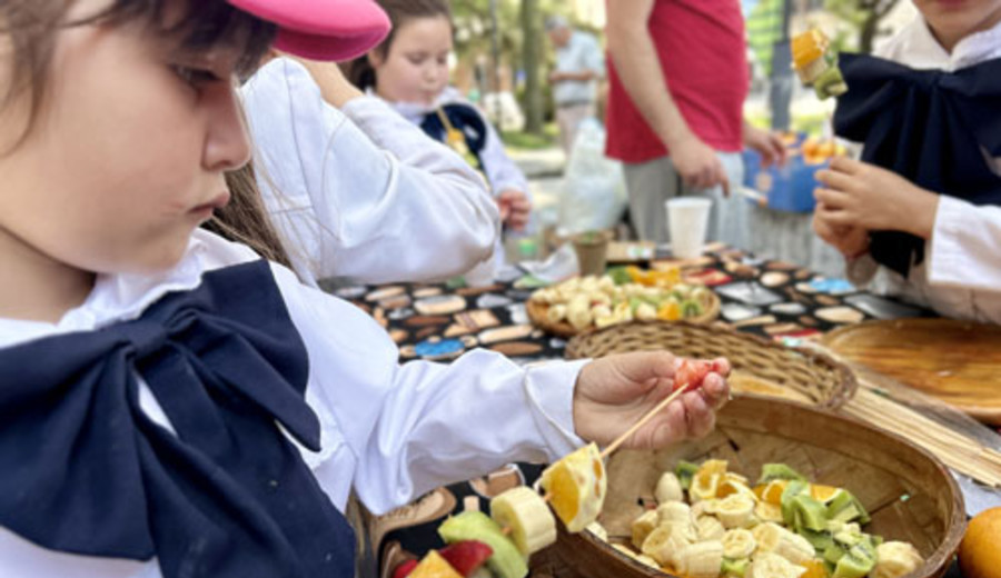
<path fill-rule="evenodd" d="M 434 281 L 489 262 L 499 216 L 483 179 L 384 102 L 338 110 L 288 58 L 240 93 L 266 206 L 305 277 Z"/>

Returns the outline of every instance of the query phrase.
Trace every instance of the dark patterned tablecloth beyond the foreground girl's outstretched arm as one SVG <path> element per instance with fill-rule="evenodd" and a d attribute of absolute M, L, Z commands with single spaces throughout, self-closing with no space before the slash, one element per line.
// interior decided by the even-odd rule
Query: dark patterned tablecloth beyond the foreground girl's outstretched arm
<path fill-rule="evenodd" d="M 930 316 L 928 311 L 859 291 L 843 279 L 809 269 L 762 261 L 722 246 L 683 265 L 684 277 L 712 287 L 722 301 L 721 321 L 772 339 L 814 339 L 838 327 L 866 319 Z M 525 312 L 533 289 L 524 273 L 505 271 L 496 285 L 449 288 L 447 285 L 349 286 L 333 292 L 351 300 L 381 323 L 400 347 L 403 360 L 449 359 L 483 347 L 517 361 L 562 358 L 566 342 L 534 328 Z"/>

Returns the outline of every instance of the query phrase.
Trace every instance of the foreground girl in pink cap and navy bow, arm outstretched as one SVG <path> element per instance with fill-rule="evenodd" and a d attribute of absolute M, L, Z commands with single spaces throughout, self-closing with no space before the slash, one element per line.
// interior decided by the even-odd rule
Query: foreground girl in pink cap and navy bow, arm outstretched
<path fill-rule="evenodd" d="M 399 366 L 364 312 L 199 228 L 271 39 L 336 59 L 386 26 L 366 0 L 0 0 L 0 576 L 348 578 L 351 490 L 386 511 L 668 395 L 663 352 Z M 707 432 L 726 393 L 632 444 Z"/>

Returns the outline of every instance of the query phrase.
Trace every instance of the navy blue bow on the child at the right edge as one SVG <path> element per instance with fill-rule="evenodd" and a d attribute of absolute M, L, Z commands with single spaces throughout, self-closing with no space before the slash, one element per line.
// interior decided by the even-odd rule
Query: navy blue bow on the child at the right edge
<path fill-rule="evenodd" d="M 859 54 L 840 63 L 849 91 L 834 131 L 865 143 L 862 160 L 933 192 L 1001 205 L 1001 177 L 983 155 L 1001 156 L 1001 59 L 951 73 Z M 904 277 L 912 259 L 924 259 L 912 235 L 878 231 L 871 240 L 873 258 Z"/>

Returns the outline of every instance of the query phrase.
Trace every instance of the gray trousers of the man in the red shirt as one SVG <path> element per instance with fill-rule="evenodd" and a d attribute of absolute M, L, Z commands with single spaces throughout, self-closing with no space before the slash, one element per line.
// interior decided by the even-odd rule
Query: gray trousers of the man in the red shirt
<path fill-rule="evenodd" d="M 744 180 L 744 162 L 740 152 L 717 152 L 730 182 L 740 186 Z M 713 200 L 710 212 L 707 241 L 723 241 L 733 247 L 747 248 L 750 241 L 750 205 L 740 195 L 723 197 L 721 187 L 693 189 L 682 183 L 670 157 L 647 162 L 623 163 L 626 190 L 630 196 L 630 219 L 641 240 L 658 243 L 671 240 L 667 230 L 665 202 L 675 197 L 705 197 Z"/>

